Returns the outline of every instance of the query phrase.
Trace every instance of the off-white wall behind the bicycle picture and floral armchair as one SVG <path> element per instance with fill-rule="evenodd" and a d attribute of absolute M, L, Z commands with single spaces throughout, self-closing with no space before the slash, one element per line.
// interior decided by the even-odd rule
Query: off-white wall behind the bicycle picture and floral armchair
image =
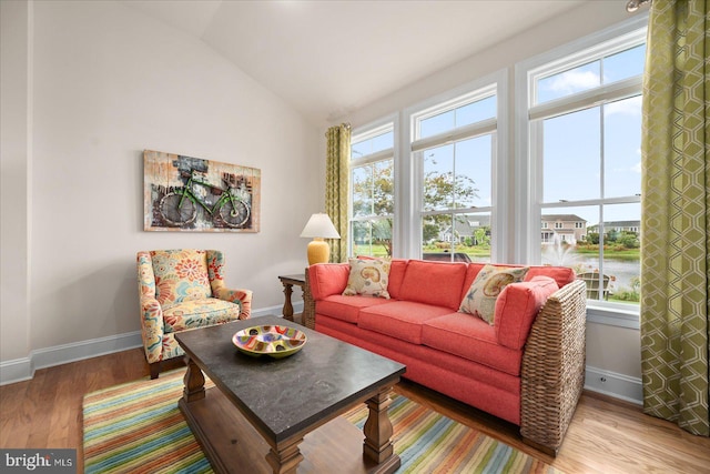
<path fill-rule="evenodd" d="M 7 22 L 23 30 L 7 36 L 27 36 L 29 52 L 13 43 L 6 57 Z M 19 112 L 14 125 L 33 117 L 24 131 L 8 129 L 7 157 L 2 124 L 4 369 L 50 347 L 135 334 L 139 250 L 221 249 L 227 285 L 253 290 L 255 310 L 280 309 L 276 276 L 305 268 L 298 234 L 322 208 L 307 181 L 323 130 L 204 43 L 120 2 L 2 1 L 2 117 Z M 17 73 L 6 90 L 6 67 L 23 60 L 33 81 Z M 6 93 L 30 105 L 6 110 Z M 261 169 L 261 232 L 143 232 L 144 149 Z M 6 189 L 10 169 L 17 182 Z M 23 219 L 27 229 L 6 241 L 10 220 Z M 7 272 L 29 275 L 26 300 L 10 294 Z"/>

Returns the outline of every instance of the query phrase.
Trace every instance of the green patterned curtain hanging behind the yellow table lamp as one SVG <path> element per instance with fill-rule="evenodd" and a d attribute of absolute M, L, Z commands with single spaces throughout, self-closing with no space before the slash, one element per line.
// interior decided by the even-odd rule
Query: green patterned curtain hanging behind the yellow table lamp
<path fill-rule="evenodd" d="M 328 240 L 331 262 L 347 260 L 347 193 L 351 163 L 351 125 L 331 127 L 325 133 L 327 155 L 325 170 L 325 213 L 331 216 L 341 239 Z"/>

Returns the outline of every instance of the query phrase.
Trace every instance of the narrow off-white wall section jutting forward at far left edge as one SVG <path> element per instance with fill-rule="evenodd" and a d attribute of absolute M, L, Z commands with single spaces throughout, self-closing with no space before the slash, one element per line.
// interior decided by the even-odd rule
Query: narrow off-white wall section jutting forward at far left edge
<path fill-rule="evenodd" d="M 28 3 L 0 2 L 0 361 L 29 353 L 31 23 Z"/>

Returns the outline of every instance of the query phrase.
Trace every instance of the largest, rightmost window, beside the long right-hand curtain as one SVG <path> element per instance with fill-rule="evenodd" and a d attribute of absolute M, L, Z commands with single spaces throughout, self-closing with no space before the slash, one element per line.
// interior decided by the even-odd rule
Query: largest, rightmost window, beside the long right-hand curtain
<path fill-rule="evenodd" d="M 645 24 L 518 67 L 527 92 L 521 170 L 532 211 L 520 220 L 530 236 L 527 260 L 572 268 L 587 282 L 590 305 L 611 311 L 638 311 L 640 301 Z M 535 219 L 555 220 L 555 231 L 540 238 Z"/>

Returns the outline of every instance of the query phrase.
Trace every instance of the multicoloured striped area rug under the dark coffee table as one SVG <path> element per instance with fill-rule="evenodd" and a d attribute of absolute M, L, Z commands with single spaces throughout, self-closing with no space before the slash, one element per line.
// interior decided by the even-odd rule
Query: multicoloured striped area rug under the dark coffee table
<path fill-rule="evenodd" d="M 85 473 L 211 473 L 178 400 L 184 370 L 84 396 Z M 212 383 L 207 381 L 207 386 Z M 367 409 L 345 417 L 362 428 Z M 559 473 L 483 433 L 425 409 L 402 395 L 389 406 L 397 473 Z"/>

